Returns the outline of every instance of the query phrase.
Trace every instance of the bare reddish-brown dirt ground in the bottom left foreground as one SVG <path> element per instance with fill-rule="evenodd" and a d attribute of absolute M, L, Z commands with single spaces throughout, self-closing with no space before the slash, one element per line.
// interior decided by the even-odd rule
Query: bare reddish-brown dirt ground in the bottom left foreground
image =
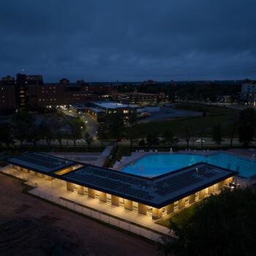
<path fill-rule="evenodd" d="M 158 255 L 157 246 L 23 194 L 0 173 L 0 255 Z"/>

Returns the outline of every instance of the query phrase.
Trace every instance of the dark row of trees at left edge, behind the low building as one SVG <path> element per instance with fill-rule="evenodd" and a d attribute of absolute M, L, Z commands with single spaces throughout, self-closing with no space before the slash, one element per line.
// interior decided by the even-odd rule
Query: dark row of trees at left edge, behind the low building
<path fill-rule="evenodd" d="M 79 118 L 68 119 L 59 112 L 36 118 L 33 113 L 18 111 L 10 122 L 0 123 L 0 145 L 9 147 L 18 141 L 20 146 L 24 142 L 37 146 L 39 140 L 45 140 L 50 146 L 53 140 L 58 140 L 62 146 L 62 140 L 66 139 L 72 140 L 76 146 L 76 141 L 83 138 L 85 132 L 86 124 Z"/>

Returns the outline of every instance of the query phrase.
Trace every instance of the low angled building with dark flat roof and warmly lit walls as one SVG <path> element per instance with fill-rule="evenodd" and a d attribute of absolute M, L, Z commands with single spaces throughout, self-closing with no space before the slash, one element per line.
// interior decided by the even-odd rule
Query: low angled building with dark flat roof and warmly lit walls
<path fill-rule="evenodd" d="M 148 178 L 48 154 L 27 153 L 6 161 L 17 170 L 66 181 L 69 191 L 154 219 L 219 191 L 238 174 L 203 162 Z"/>

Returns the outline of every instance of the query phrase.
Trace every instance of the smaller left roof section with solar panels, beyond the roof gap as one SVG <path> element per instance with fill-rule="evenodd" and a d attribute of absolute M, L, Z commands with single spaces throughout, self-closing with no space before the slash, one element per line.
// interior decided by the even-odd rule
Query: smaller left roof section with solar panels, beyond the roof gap
<path fill-rule="evenodd" d="M 17 157 L 7 159 L 12 165 L 18 165 L 28 170 L 35 170 L 39 173 L 54 173 L 57 170 L 76 165 L 76 162 L 68 159 L 53 157 L 50 154 L 25 153 Z"/>

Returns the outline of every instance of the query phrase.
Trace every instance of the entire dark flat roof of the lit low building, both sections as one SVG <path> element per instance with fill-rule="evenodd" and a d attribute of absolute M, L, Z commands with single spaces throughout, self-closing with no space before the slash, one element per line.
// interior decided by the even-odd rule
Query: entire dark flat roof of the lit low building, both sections
<path fill-rule="evenodd" d="M 200 162 L 161 176 L 147 178 L 42 153 L 21 154 L 6 159 L 6 162 L 156 208 L 167 206 L 238 174 L 233 170 Z M 57 170 L 78 164 L 82 167 L 61 176 L 56 174 Z"/>

